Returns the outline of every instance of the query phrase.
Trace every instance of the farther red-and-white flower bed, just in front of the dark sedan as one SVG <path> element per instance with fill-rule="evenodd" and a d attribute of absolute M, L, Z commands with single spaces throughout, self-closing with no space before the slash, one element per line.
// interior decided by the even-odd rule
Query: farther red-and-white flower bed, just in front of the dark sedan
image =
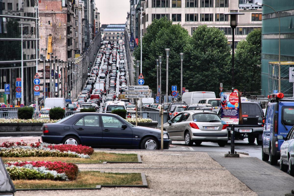
<path fill-rule="evenodd" d="M 0 157 L 72 157 L 90 158 L 94 150 L 83 145 L 54 145 L 47 143 L 4 142 L 0 145 Z"/>

